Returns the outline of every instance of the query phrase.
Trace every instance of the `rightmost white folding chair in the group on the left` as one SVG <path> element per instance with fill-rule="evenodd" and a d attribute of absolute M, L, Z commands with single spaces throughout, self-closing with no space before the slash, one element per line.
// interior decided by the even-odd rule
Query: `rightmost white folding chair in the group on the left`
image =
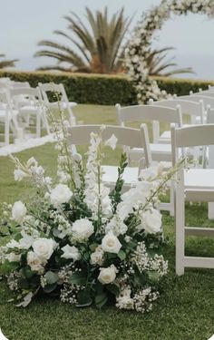
<path fill-rule="evenodd" d="M 75 117 L 73 115 L 73 107 L 77 105 L 76 102 L 69 102 L 67 94 L 64 90 L 63 87 L 63 83 L 60 84 L 56 84 L 56 83 L 39 83 L 39 88 L 40 91 L 42 93 L 44 102 L 47 106 L 47 108 L 51 111 L 51 112 L 57 112 L 59 110 L 59 106 L 60 108 L 67 112 L 69 115 L 69 121 L 71 123 L 71 125 L 75 125 L 76 121 L 75 121 Z M 50 102 L 49 100 L 49 96 L 48 94 L 52 93 L 52 101 Z M 53 96 L 55 96 L 55 94 L 58 93 L 58 100 L 59 102 L 56 100 L 56 98 L 54 98 L 53 101 Z"/>

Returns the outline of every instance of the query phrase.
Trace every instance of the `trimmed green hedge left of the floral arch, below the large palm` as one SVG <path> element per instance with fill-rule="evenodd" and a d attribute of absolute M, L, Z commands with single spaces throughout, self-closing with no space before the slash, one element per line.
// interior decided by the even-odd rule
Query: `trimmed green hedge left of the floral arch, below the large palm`
<path fill-rule="evenodd" d="M 72 102 L 122 105 L 136 102 L 131 82 L 125 77 L 100 74 L 48 73 L 48 72 L 0 72 L 16 82 L 28 82 L 35 87 L 38 83 L 63 83 Z"/>

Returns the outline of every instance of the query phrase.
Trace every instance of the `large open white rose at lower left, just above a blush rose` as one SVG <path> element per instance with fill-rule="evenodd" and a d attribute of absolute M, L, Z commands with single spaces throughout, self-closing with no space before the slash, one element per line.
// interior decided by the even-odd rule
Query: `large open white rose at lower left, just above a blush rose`
<path fill-rule="evenodd" d="M 52 238 L 36 238 L 32 247 L 35 255 L 46 261 L 52 256 L 56 243 Z"/>

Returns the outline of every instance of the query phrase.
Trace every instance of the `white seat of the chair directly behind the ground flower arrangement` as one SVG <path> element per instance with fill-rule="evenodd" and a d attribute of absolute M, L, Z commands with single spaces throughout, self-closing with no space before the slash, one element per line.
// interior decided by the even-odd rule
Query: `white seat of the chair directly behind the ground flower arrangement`
<path fill-rule="evenodd" d="M 102 180 L 109 185 L 114 185 L 118 179 L 118 167 L 115 166 L 102 166 Z M 138 181 L 139 168 L 127 167 L 122 175 L 122 180 L 124 180 L 124 185 L 132 187 L 136 185 Z"/>

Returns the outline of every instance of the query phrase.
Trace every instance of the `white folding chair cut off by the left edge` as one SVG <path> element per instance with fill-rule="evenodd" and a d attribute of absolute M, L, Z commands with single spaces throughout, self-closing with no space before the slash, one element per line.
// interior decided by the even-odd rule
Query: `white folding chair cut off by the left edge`
<path fill-rule="evenodd" d="M 10 142 L 10 130 L 15 135 L 20 131 L 17 121 L 18 111 L 12 109 L 8 92 L 0 92 L 0 121 L 4 123 L 4 144 Z"/>

